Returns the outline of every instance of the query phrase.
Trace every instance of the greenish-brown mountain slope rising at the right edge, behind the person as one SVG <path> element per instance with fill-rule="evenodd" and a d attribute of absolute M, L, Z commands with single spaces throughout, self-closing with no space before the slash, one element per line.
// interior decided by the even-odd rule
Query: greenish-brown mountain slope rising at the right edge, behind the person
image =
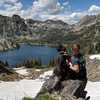
<path fill-rule="evenodd" d="M 100 52 L 100 14 L 96 16 L 85 16 L 73 29 L 77 33 L 79 41 L 87 52 Z M 88 49 L 89 48 L 89 49 Z M 92 50 L 92 51 L 91 51 Z"/>

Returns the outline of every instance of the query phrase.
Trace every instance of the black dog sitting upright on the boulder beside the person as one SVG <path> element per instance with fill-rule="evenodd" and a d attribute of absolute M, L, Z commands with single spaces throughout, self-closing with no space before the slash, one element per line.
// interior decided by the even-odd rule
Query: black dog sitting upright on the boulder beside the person
<path fill-rule="evenodd" d="M 64 80 L 67 76 L 69 68 L 70 55 L 67 54 L 66 48 L 60 45 L 58 48 L 58 66 L 54 70 L 54 74 L 59 77 L 59 80 Z"/>

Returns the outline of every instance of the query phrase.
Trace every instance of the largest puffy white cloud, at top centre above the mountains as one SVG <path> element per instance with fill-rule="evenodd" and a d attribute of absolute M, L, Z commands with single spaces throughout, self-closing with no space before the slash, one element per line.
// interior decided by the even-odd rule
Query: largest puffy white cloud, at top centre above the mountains
<path fill-rule="evenodd" d="M 62 11 L 63 7 L 60 5 L 58 0 L 38 0 L 33 2 L 32 7 L 25 10 L 22 16 L 26 16 L 26 18 L 40 19 L 42 15 L 56 15 Z"/>

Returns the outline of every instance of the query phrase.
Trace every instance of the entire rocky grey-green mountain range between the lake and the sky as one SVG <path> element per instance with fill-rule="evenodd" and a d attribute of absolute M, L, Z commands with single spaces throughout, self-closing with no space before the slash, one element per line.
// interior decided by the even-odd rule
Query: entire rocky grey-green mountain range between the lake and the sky
<path fill-rule="evenodd" d="M 36 21 L 0 15 L 0 38 L 29 36 L 46 43 L 81 43 L 87 52 L 100 52 L 100 14 L 85 16 L 79 23 L 69 25 L 61 20 Z M 91 51 L 92 48 L 93 50 Z"/>

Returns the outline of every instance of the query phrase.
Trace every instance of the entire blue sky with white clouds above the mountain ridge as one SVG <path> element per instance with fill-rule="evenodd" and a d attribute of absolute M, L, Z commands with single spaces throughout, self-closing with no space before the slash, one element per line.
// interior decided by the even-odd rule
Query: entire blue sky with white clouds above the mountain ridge
<path fill-rule="evenodd" d="M 0 14 L 34 20 L 63 20 L 77 23 L 86 15 L 100 13 L 100 0 L 0 0 Z"/>

